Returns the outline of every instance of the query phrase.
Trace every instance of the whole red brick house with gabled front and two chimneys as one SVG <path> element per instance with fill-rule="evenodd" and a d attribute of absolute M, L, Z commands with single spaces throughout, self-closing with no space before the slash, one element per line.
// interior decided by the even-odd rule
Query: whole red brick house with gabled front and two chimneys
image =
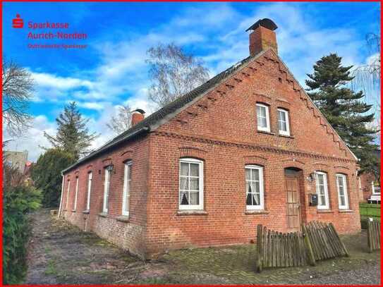
<path fill-rule="evenodd" d="M 357 159 L 279 58 L 275 29 L 257 21 L 248 58 L 147 118 L 135 111 L 64 170 L 61 215 L 140 255 L 249 243 L 257 224 L 359 232 Z"/>

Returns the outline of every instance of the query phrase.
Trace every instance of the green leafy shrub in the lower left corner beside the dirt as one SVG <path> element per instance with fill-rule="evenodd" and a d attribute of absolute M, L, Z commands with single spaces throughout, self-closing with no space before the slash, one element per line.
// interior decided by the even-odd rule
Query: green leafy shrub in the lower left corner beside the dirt
<path fill-rule="evenodd" d="M 3 283 L 20 283 L 27 269 L 28 212 L 39 208 L 41 193 L 32 186 L 3 188 Z"/>

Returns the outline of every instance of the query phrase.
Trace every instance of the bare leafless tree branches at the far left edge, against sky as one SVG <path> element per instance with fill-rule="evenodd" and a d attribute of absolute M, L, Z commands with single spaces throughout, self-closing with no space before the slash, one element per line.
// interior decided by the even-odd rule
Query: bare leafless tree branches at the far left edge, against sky
<path fill-rule="evenodd" d="M 33 79 L 27 69 L 13 61 L 3 61 L 3 123 L 10 135 L 20 135 L 28 128 L 32 116 L 28 114 Z"/>

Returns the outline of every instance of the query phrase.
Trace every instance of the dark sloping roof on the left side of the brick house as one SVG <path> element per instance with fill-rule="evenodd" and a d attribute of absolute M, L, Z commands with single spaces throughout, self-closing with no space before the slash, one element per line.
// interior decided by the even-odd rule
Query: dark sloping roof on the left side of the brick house
<path fill-rule="evenodd" d="M 262 52 L 260 54 L 262 54 Z M 230 68 L 226 69 L 225 71 L 214 76 L 207 82 L 203 83 L 199 87 L 196 87 L 194 90 L 188 92 L 187 94 L 184 94 L 183 96 L 179 97 L 173 102 L 166 104 L 166 106 L 162 107 L 162 109 L 155 111 L 153 114 L 151 114 L 147 118 L 144 118 L 142 121 L 137 123 L 132 128 L 129 128 L 128 130 L 124 131 L 120 135 L 117 135 L 115 138 L 107 142 L 102 147 L 99 147 L 99 149 L 96 149 L 95 151 L 88 154 L 86 157 L 79 159 L 77 162 L 75 162 L 75 164 L 68 166 L 68 168 L 64 169 L 62 172 L 65 173 L 66 171 L 74 169 L 76 166 L 82 164 L 88 159 L 91 159 L 95 157 L 97 154 L 107 151 L 109 148 L 114 147 L 115 145 L 123 142 L 124 140 L 131 139 L 135 135 L 141 134 L 142 132 L 149 131 L 152 126 L 156 125 L 159 121 L 164 119 L 166 116 L 174 113 L 178 109 L 190 103 L 191 101 L 193 101 L 193 99 L 195 99 L 196 97 L 200 96 L 201 94 L 203 94 L 210 88 L 220 83 L 221 80 L 224 80 L 225 78 L 229 77 L 229 75 L 231 75 L 234 71 L 237 71 L 239 68 L 241 68 L 250 59 L 260 56 L 260 54 L 257 54 L 255 56 L 248 56 L 248 58 L 243 59 L 242 61 L 239 61 L 238 63 L 234 64 Z"/>

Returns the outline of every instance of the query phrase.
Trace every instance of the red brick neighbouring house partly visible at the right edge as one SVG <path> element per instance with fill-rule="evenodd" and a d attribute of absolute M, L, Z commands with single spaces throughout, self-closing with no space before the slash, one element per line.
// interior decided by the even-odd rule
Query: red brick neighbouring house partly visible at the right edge
<path fill-rule="evenodd" d="M 380 162 L 380 150 L 376 156 Z M 362 173 L 359 176 L 359 189 L 363 202 L 380 204 L 380 182 L 377 176 L 372 173 Z"/>

